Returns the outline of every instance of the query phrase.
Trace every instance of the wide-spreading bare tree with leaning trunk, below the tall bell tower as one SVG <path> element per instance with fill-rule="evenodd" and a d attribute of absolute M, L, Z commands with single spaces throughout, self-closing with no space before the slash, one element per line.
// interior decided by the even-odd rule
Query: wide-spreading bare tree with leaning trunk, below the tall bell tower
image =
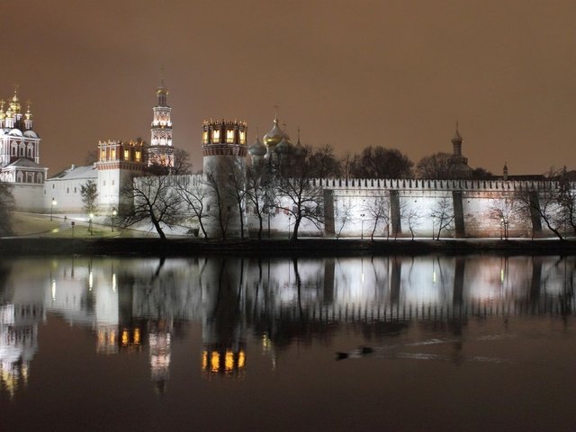
<path fill-rule="evenodd" d="M 180 220 L 182 199 L 175 192 L 170 175 L 144 175 L 125 186 L 124 193 L 132 197 L 133 206 L 121 214 L 119 225 L 129 227 L 148 220 L 161 239 L 166 239 L 163 225 L 172 228 Z"/>

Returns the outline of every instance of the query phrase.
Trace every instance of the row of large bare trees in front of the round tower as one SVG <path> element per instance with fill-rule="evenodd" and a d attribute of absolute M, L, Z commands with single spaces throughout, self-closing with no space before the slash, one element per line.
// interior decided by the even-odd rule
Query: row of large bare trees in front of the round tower
<path fill-rule="evenodd" d="M 232 221 L 238 221 L 244 238 L 247 206 L 258 220 L 258 238 L 263 237 L 264 221 L 276 211 L 293 220 L 292 237 L 297 239 L 303 220 L 320 229 L 324 221 L 324 196 L 313 179 L 333 166 L 335 157 L 329 148 L 303 148 L 278 156 L 274 164 L 245 167 L 230 158 L 228 165 L 208 166 L 202 176 L 155 175 L 148 172 L 122 193 L 133 197 L 134 206 L 121 214 L 121 226 L 149 221 L 160 238 L 163 227 L 173 228 L 197 222 L 204 238 L 209 237 L 207 221 L 219 227 L 219 238 L 227 238 Z M 270 161 L 272 162 L 272 161 Z"/>

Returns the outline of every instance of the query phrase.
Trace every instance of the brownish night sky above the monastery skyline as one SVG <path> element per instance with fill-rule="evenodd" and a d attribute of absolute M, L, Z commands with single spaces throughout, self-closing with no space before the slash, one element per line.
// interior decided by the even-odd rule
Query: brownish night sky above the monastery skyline
<path fill-rule="evenodd" d="M 203 119 L 279 105 L 293 141 L 338 155 L 451 151 L 500 174 L 576 167 L 576 2 L 2 0 L 0 94 L 20 85 L 55 175 L 98 139 L 149 141 L 160 70 L 175 147 L 202 167 Z"/>

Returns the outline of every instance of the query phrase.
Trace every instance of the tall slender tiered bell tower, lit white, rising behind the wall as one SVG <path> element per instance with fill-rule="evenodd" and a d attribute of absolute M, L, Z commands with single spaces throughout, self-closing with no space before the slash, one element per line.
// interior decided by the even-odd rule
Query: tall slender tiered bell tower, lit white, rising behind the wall
<path fill-rule="evenodd" d="M 150 130 L 150 147 L 148 148 L 148 166 L 158 165 L 174 167 L 174 147 L 172 147 L 172 108 L 167 104 L 168 89 L 164 86 L 164 76 L 156 91 L 158 102 L 152 108 L 152 128 Z"/>

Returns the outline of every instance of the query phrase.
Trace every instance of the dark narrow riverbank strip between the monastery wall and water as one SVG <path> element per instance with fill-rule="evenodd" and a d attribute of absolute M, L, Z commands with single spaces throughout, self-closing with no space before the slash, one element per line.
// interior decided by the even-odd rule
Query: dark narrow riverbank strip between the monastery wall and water
<path fill-rule="evenodd" d="M 427 254 L 576 255 L 576 240 L 302 238 L 204 240 L 202 238 L 0 238 L 1 257 L 116 256 L 193 257 L 205 255 L 357 257 Z"/>

